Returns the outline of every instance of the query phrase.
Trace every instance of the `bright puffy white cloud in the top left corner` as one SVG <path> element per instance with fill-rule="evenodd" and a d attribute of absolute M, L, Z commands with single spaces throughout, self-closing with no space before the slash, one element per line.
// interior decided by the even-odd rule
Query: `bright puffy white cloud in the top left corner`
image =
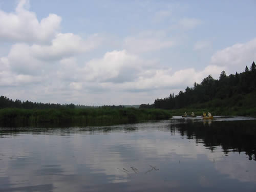
<path fill-rule="evenodd" d="M 0 39 L 45 42 L 56 35 L 61 17 L 49 14 L 39 22 L 36 14 L 26 10 L 26 6 L 29 6 L 29 1 L 21 0 L 15 13 L 6 13 L 0 10 Z"/>

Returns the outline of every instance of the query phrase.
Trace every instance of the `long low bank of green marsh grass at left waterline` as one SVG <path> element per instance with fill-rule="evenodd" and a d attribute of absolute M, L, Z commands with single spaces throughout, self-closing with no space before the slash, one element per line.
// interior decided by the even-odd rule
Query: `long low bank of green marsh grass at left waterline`
<path fill-rule="evenodd" d="M 17 109 L 0 110 L 2 126 L 40 126 L 40 125 L 112 125 L 134 123 L 144 120 L 161 120 L 170 118 L 167 110 L 135 109 L 109 107 L 97 109 Z"/>

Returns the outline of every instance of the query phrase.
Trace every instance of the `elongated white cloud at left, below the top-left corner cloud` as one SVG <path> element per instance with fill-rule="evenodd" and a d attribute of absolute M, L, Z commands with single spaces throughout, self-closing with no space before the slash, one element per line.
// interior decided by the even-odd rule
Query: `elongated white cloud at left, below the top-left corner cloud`
<path fill-rule="evenodd" d="M 53 67 L 55 62 L 90 51 L 100 42 L 97 34 L 82 39 L 73 33 L 59 33 L 49 46 L 15 44 L 6 59 L 15 73 L 39 75 L 49 70 L 49 66 Z"/>

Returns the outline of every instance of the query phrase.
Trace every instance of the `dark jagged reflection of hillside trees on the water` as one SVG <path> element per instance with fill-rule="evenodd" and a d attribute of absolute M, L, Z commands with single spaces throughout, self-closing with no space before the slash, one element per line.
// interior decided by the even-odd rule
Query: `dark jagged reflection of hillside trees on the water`
<path fill-rule="evenodd" d="M 224 154 L 229 152 L 245 152 L 249 160 L 256 160 L 256 121 L 213 121 L 187 122 L 170 125 L 170 132 L 187 139 L 195 139 L 197 143 L 214 152 L 221 146 Z"/>

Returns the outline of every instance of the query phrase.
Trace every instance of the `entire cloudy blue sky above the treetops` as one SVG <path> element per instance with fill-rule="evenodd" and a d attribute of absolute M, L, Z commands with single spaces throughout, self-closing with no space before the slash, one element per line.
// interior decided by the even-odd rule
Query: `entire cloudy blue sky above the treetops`
<path fill-rule="evenodd" d="M 0 95 L 153 103 L 250 67 L 255 8 L 255 0 L 0 0 Z"/>

